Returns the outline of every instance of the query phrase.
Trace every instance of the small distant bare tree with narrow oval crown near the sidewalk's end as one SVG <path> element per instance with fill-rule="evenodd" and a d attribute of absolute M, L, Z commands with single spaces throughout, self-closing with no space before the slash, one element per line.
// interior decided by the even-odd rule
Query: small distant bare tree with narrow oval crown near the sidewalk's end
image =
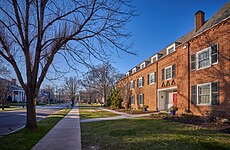
<path fill-rule="evenodd" d="M 65 91 L 68 97 L 72 102 L 72 106 L 74 106 L 74 100 L 77 98 L 77 94 L 80 88 L 80 80 L 77 77 L 69 77 L 65 79 L 64 83 Z"/>

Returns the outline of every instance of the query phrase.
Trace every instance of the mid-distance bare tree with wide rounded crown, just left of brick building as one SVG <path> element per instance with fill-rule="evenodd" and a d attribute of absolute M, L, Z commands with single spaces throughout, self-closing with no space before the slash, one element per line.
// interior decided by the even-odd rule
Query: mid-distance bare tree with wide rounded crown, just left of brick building
<path fill-rule="evenodd" d="M 88 91 L 97 91 L 106 103 L 111 89 L 115 87 L 116 81 L 121 76 L 111 64 L 103 63 L 83 75 L 82 85 Z"/>

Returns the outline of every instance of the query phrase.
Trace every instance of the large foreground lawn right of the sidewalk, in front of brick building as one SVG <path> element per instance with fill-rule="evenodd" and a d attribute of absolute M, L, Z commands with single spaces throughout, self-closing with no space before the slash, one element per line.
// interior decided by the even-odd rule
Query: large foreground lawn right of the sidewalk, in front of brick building
<path fill-rule="evenodd" d="M 230 149 L 230 134 L 161 119 L 81 123 L 81 134 L 83 150 Z"/>

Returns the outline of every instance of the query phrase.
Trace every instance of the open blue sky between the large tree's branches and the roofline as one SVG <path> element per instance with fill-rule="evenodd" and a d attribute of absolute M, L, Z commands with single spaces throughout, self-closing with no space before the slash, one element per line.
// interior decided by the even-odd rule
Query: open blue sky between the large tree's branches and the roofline
<path fill-rule="evenodd" d="M 194 14 L 205 12 L 205 20 L 212 17 L 227 0 L 134 0 L 139 16 L 132 19 L 128 28 L 133 36 L 136 56 L 120 53 L 113 56 L 113 64 L 125 73 L 162 48 L 194 29 Z"/>

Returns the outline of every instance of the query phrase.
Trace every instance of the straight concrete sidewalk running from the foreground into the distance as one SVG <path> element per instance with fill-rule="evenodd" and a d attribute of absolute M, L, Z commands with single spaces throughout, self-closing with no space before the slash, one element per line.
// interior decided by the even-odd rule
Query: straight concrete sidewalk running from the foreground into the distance
<path fill-rule="evenodd" d="M 73 108 L 32 150 L 81 150 L 79 109 Z"/>

